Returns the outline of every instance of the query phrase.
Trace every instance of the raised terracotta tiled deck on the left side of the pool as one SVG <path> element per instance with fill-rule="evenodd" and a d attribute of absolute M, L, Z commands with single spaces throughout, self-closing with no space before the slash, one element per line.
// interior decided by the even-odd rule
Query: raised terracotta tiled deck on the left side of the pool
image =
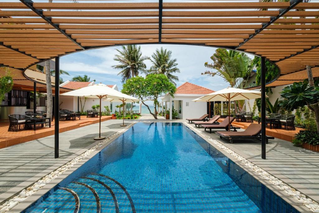
<path fill-rule="evenodd" d="M 101 121 L 110 120 L 112 116 L 102 116 Z M 60 121 L 59 132 L 65 132 L 79 127 L 88 126 L 91 124 L 99 123 L 99 118 L 86 118 L 81 116 L 81 120 L 76 119 L 74 121 Z M 37 127 L 33 130 L 19 130 L 17 132 L 8 132 L 9 122 L 0 122 L 0 148 L 9 147 L 19 143 L 36 140 L 49 135 L 54 134 L 54 121 L 51 122 L 51 128 L 49 127 Z"/>

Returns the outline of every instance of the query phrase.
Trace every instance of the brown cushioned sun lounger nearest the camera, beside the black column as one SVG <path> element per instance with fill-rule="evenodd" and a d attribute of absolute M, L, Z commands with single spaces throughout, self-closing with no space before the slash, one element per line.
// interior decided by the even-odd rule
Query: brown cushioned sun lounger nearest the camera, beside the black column
<path fill-rule="evenodd" d="M 250 124 L 247 129 L 243 132 L 217 132 L 220 138 L 225 138 L 233 143 L 233 140 L 245 140 L 245 139 L 256 139 L 261 140 L 261 124 Z M 274 137 L 266 136 L 266 143 L 269 139 L 274 139 Z"/>

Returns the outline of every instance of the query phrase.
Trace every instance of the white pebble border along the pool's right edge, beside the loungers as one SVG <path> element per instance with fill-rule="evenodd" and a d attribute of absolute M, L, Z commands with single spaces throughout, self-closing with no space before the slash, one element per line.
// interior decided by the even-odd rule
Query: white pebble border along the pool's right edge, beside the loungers
<path fill-rule="evenodd" d="M 235 157 L 237 160 L 239 160 L 246 167 L 249 167 L 250 169 L 253 169 L 256 173 L 258 173 L 261 177 L 263 177 L 263 179 L 268 180 L 273 185 L 277 186 L 280 190 L 286 192 L 288 195 L 290 195 L 291 197 L 295 198 L 297 202 L 302 203 L 303 205 L 305 205 L 308 209 L 310 209 L 310 211 L 315 212 L 315 213 L 319 213 L 319 204 L 317 202 L 311 200 L 310 198 L 307 198 L 306 195 L 301 194 L 296 189 L 288 186 L 282 180 L 272 176 L 267 171 L 264 171 L 262 168 L 260 168 L 257 165 L 251 163 L 249 160 L 247 160 L 246 158 L 240 156 L 239 154 L 237 154 L 236 152 L 234 152 L 230 148 L 228 148 L 228 147 L 224 146 L 223 144 L 219 143 L 218 141 L 212 139 L 210 136 L 202 133 L 201 130 L 199 130 L 197 128 L 194 128 L 193 126 L 191 126 L 187 122 L 184 122 L 184 124 L 186 126 L 190 127 L 194 132 L 200 134 L 204 138 L 207 138 L 208 141 L 211 141 L 212 143 L 216 144 L 219 148 L 223 149 L 228 154 L 230 154 L 233 157 Z"/>

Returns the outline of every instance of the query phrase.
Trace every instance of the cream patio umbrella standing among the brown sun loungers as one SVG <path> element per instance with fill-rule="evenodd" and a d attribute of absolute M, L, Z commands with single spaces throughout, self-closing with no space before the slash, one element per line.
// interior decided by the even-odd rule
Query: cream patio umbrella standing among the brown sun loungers
<path fill-rule="evenodd" d="M 192 101 L 195 102 L 211 102 L 211 101 L 228 101 L 228 119 L 230 122 L 230 101 L 237 100 L 250 100 L 261 97 L 260 91 L 248 90 L 248 89 L 238 89 L 233 87 L 227 87 L 225 89 L 204 95 Z M 230 123 L 228 123 L 228 131 L 230 131 Z"/>

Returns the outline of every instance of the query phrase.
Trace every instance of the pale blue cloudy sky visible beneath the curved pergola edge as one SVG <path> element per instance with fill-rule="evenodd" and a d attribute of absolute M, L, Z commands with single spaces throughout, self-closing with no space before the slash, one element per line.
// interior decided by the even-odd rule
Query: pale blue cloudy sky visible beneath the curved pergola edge
<path fill-rule="evenodd" d="M 216 48 L 191 46 L 191 45 L 172 45 L 172 44 L 145 44 L 141 45 L 143 55 L 151 57 L 157 48 L 166 48 L 172 51 L 172 57 L 177 58 L 178 68 L 181 70 L 176 75 L 180 86 L 188 81 L 212 90 L 219 90 L 228 87 L 229 84 L 221 77 L 209 77 L 201 75 L 207 69 L 204 67 L 205 62 L 211 63 L 211 55 Z M 117 84 L 119 89 L 122 88 L 121 77 L 117 75 L 118 70 L 111 66 L 117 62 L 113 60 L 116 54 L 115 49 L 121 47 L 107 47 L 102 49 L 88 50 L 84 52 L 73 53 L 63 56 L 60 59 L 61 69 L 68 71 L 70 76 L 61 76 L 63 80 L 71 80 L 73 76 L 87 74 L 91 80 L 95 79 L 97 83 Z M 145 61 L 147 68 L 150 68 L 150 61 Z"/>

